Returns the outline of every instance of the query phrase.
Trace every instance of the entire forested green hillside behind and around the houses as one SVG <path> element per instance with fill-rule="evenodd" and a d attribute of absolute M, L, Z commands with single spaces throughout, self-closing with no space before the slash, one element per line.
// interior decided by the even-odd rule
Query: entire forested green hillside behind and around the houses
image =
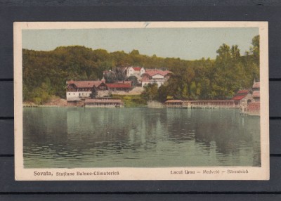
<path fill-rule="evenodd" d="M 23 49 L 23 100 L 40 104 L 51 96 L 65 98 L 67 80 L 101 79 L 103 70 L 125 66 L 174 72 L 169 82 L 159 89 L 146 87 L 143 98 L 147 100 L 164 101 L 168 96 L 190 100 L 228 99 L 237 90 L 250 88 L 254 78 L 259 79 L 259 36 L 254 37 L 245 54 L 240 53 L 238 46 L 226 44 L 216 53 L 215 60 L 181 60 L 145 56 L 138 50 L 108 53 L 84 46 L 63 46 L 53 51 Z"/>

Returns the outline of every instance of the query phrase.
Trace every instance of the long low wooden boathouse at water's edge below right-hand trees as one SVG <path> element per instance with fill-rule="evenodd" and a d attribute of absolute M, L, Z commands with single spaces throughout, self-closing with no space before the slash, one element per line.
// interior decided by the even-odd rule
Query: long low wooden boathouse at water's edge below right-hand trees
<path fill-rule="evenodd" d="M 166 108 L 235 108 L 234 100 L 166 100 Z"/>

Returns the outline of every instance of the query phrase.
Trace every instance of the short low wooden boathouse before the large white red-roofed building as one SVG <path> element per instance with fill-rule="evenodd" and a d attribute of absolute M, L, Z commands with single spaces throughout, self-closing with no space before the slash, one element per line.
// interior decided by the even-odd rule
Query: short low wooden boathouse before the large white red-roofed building
<path fill-rule="evenodd" d="M 123 108 L 124 103 L 120 98 L 93 98 L 85 100 L 85 107 L 92 108 Z"/>

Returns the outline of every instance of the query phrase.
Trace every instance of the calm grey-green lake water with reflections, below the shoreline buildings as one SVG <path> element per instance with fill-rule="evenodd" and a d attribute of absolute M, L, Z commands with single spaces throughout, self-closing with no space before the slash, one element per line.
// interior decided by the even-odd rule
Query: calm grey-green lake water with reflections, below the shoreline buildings
<path fill-rule="evenodd" d="M 239 110 L 24 108 L 25 168 L 261 166 Z"/>

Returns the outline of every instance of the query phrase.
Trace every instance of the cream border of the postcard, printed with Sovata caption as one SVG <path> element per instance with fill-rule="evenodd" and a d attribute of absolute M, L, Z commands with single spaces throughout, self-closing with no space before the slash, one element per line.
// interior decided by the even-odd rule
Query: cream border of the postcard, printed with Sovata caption
<path fill-rule="evenodd" d="M 24 168 L 22 145 L 22 30 L 144 27 L 259 27 L 261 167 Z M 268 97 L 268 22 L 14 22 L 15 180 L 268 180 Z M 182 171 L 183 174 L 171 174 L 174 171 Z M 230 171 L 236 171 L 236 173 L 229 173 Z"/>

